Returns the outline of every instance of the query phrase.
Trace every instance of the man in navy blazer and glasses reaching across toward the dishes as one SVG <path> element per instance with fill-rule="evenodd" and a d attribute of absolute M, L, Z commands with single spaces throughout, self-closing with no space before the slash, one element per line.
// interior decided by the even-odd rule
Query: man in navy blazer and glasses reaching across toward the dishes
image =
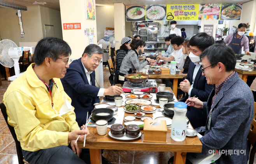
<path fill-rule="evenodd" d="M 94 105 L 100 102 L 98 96 L 114 96 L 122 93 L 118 86 L 103 89 L 95 86 L 95 69 L 101 63 L 102 48 L 96 44 L 89 44 L 82 54 L 82 58 L 74 60 L 61 79 L 64 91 L 71 98 L 74 106 L 76 121 L 79 126 L 86 124 L 87 111 L 91 114 Z"/>

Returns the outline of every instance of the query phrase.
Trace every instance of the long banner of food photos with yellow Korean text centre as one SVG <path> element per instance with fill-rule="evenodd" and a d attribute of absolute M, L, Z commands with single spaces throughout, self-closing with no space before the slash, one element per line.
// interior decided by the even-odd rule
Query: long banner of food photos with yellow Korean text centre
<path fill-rule="evenodd" d="M 126 6 L 126 21 L 240 20 L 242 4 L 135 5 Z"/>

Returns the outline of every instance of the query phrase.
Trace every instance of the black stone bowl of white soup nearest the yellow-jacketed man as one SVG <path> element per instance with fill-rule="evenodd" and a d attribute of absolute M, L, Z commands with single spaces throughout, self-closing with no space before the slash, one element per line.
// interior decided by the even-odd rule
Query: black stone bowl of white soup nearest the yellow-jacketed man
<path fill-rule="evenodd" d="M 113 116 L 114 116 L 114 111 L 112 109 L 109 109 L 109 108 L 98 108 L 98 109 L 94 109 L 92 112 L 92 119 L 93 121 L 98 121 L 98 120 L 107 120 L 107 121 L 110 121 Z M 107 116 L 98 116 L 96 114 L 98 113 L 109 113 L 109 115 Z"/>

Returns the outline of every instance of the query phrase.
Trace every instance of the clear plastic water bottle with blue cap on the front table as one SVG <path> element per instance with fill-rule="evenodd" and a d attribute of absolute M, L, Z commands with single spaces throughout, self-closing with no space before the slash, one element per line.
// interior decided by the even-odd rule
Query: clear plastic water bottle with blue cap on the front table
<path fill-rule="evenodd" d="M 185 102 L 175 102 L 174 117 L 172 118 L 171 138 L 175 141 L 184 141 L 187 130 L 187 113 L 188 105 Z"/>

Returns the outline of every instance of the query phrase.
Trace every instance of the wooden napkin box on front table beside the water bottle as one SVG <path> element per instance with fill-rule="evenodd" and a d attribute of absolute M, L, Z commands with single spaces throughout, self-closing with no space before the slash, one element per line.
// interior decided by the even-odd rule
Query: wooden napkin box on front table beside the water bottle
<path fill-rule="evenodd" d="M 167 143 L 166 121 L 161 120 L 161 125 L 151 125 L 156 120 L 144 120 L 144 138 L 143 142 Z"/>

